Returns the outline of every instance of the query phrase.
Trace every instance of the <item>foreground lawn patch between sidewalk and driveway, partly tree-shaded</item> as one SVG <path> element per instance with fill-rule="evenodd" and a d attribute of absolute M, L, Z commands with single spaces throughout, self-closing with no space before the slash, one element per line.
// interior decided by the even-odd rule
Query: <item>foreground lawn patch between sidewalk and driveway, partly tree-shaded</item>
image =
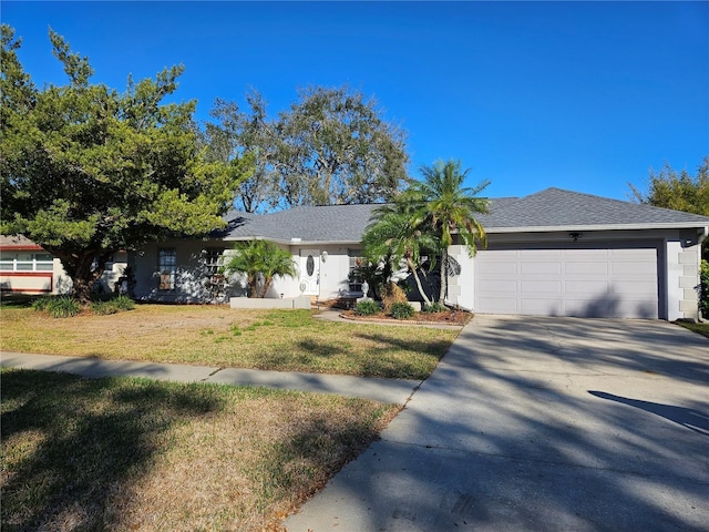
<path fill-rule="evenodd" d="M 2 530 L 275 530 L 398 411 L 337 396 L 2 370 Z"/>

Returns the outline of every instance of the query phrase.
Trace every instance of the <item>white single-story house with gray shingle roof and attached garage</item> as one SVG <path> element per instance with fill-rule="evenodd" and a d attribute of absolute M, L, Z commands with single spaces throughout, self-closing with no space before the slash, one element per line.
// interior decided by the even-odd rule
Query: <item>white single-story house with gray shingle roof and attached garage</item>
<path fill-rule="evenodd" d="M 133 253 L 135 296 L 202 303 L 208 279 L 236 242 L 265 238 L 288 250 L 297 278 L 277 278 L 271 298 L 361 296 L 351 274 L 376 205 L 296 207 L 271 214 L 232 212 L 228 226 L 202 239 L 152 244 Z M 449 279 L 446 303 L 476 313 L 697 319 L 701 242 L 709 217 L 547 188 L 492 200 L 480 215 L 489 246 Z M 235 279 L 232 295 L 245 296 Z"/>

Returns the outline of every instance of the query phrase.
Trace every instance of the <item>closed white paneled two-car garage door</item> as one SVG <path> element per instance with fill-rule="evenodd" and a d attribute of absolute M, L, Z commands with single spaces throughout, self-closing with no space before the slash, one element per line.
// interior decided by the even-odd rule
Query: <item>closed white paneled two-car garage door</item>
<path fill-rule="evenodd" d="M 491 247 L 475 256 L 475 311 L 658 317 L 657 247 Z"/>

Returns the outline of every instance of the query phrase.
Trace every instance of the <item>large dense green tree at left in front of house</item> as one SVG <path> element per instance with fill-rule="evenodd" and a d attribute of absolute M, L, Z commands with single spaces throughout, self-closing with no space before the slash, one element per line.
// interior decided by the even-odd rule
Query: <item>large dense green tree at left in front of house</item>
<path fill-rule="evenodd" d="M 68 82 L 38 89 L 2 24 L 1 226 L 59 257 L 86 300 L 112 255 L 174 235 L 223 226 L 222 214 L 253 163 L 208 162 L 195 102 L 165 103 L 183 66 L 127 79 L 123 93 L 92 84 L 88 58 L 50 29 Z"/>

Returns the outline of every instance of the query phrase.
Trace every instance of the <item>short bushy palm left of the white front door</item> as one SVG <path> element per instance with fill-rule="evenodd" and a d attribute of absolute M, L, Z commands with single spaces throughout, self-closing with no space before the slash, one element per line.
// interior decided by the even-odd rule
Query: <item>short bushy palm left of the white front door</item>
<path fill-rule="evenodd" d="M 296 264 L 290 254 L 270 241 L 239 242 L 235 246 L 236 254 L 224 265 L 227 274 L 245 274 L 249 288 L 249 297 L 266 297 L 274 277 L 297 275 Z M 258 283 L 263 278 L 260 293 Z"/>

